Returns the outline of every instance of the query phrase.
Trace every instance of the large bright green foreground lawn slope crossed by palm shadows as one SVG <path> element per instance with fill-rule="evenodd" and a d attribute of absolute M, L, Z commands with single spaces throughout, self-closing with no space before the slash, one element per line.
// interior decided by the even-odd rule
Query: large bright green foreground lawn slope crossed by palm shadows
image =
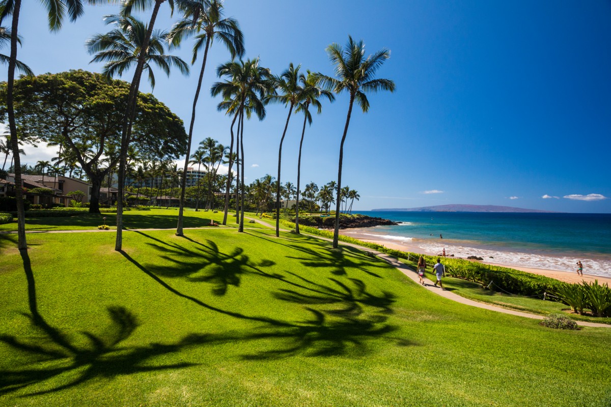
<path fill-rule="evenodd" d="M 463 306 L 356 249 L 272 235 L 128 232 L 126 256 L 114 234 L 31 235 L 57 331 L 22 315 L 26 273 L 0 236 L 0 405 L 611 402 L 609 330 Z"/>

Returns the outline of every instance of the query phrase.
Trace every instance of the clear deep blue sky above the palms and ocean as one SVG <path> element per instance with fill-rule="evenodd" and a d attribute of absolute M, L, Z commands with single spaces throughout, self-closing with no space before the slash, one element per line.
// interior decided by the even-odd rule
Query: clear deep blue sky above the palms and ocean
<path fill-rule="evenodd" d="M 19 59 L 35 73 L 101 71 L 89 64 L 84 42 L 109 31 L 102 16 L 116 10 L 88 6 L 76 23 L 50 34 L 42 5 L 25 2 Z M 596 199 L 611 196 L 610 2 L 227 0 L 225 10 L 241 24 L 246 57 L 259 56 L 276 74 L 290 62 L 332 74 L 324 49 L 344 45 L 348 35 L 364 40 L 367 54 L 390 49 L 378 76 L 397 90 L 370 95 L 370 111 L 353 112 L 346 138 L 342 184 L 359 192 L 356 209 L 493 204 L 611 212 L 611 199 Z M 155 27 L 169 29 L 169 14 L 166 2 Z M 174 54 L 189 62 L 190 50 L 187 43 Z M 228 59 L 215 43 L 206 89 Z M 196 75 L 158 72 L 156 79 L 153 93 L 188 122 Z M 143 82 L 141 90 L 150 88 Z M 216 112 L 218 102 L 207 91 L 200 98 L 195 143 L 229 144 L 230 120 Z M 306 130 L 302 184 L 337 178 L 347 109 L 347 96 L 338 96 Z M 271 105 L 264 121 L 246 124 L 246 181 L 276 176 L 287 113 Z M 301 125 L 300 115 L 291 118 L 282 182 L 296 182 Z M 25 162 L 44 154 L 43 146 L 29 149 Z"/>

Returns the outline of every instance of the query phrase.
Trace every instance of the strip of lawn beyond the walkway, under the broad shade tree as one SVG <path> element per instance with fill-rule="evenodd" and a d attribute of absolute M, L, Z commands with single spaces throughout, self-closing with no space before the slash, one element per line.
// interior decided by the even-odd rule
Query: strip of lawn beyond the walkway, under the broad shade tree
<path fill-rule="evenodd" d="M 232 212 L 227 217 L 227 226 L 237 227 L 235 217 Z M 53 230 L 95 230 L 104 222 L 103 217 L 106 217 L 106 225 L 111 229 L 116 229 L 117 214 L 82 214 L 71 217 L 41 217 L 41 218 L 26 218 L 26 230 L 29 231 L 53 231 Z M 199 228 L 207 226 L 210 220 L 213 219 L 216 223 L 221 223 L 223 213 L 219 211 L 214 214 L 213 211 L 198 211 L 187 208 L 183 214 L 183 227 Z M 123 223 L 128 229 L 171 229 L 176 228 L 178 222 L 178 209 L 151 209 L 150 211 L 126 211 L 123 212 Z M 244 228 L 260 228 L 261 226 L 245 221 Z M 7 223 L 0 225 L 0 231 L 16 231 L 17 223 Z"/>

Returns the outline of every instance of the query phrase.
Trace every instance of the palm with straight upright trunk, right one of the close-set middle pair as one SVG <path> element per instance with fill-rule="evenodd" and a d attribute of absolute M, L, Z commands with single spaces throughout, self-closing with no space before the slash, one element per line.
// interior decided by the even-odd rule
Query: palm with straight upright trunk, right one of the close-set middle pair
<path fill-rule="evenodd" d="M 262 99 L 269 93 L 269 77 L 271 73 L 268 68 L 260 67 L 259 59 L 230 61 L 216 68 L 219 77 L 225 77 L 224 82 L 216 82 L 211 88 L 212 96 L 222 95 L 223 100 L 230 102 L 230 109 L 237 109 L 238 132 L 240 133 L 240 156 L 241 156 L 241 185 L 240 185 L 240 207 L 244 207 L 244 113 L 249 117 L 254 112 L 259 120 L 265 118 L 265 106 Z M 228 111 L 230 109 L 227 109 Z M 231 110 L 233 112 L 233 110 Z M 238 157 L 239 158 L 239 157 Z M 236 206 L 237 200 L 236 200 Z M 244 231 L 244 212 L 240 214 L 239 232 Z"/>

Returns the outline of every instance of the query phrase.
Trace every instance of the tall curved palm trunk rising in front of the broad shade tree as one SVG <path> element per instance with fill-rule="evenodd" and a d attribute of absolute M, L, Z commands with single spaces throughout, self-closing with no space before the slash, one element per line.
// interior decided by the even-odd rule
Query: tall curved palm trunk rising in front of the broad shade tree
<path fill-rule="evenodd" d="M 123 121 L 123 129 L 121 131 L 121 148 L 119 150 L 119 192 L 117 193 L 117 238 L 115 239 L 115 250 L 121 251 L 123 245 L 123 195 L 125 195 L 125 173 L 127 170 L 127 148 L 130 145 L 131 126 L 136 115 L 136 100 L 138 97 L 138 89 L 140 87 L 140 78 L 142 77 L 142 68 L 144 67 L 144 53 L 148 49 L 153 26 L 159 7 L 164 0 L 155 0 L 155 7 L 148 22 L 147 36 L 142 41 L 142 48 L 138 54 L 138 62 L 134 77 L 131 80 L 130 93 L 127 98 L 127 106 L 125 109 L 125 120 Z"/>

